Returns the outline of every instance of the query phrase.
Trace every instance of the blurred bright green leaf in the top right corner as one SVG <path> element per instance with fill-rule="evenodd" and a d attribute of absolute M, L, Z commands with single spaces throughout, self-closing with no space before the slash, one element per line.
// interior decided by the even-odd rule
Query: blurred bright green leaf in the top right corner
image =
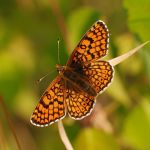
<path fill-rule="evenodd" d="M 150 1 L 126 0 L 124 6 L 128 13 L 128 25 L 143 41 L 150 40 Z"/>

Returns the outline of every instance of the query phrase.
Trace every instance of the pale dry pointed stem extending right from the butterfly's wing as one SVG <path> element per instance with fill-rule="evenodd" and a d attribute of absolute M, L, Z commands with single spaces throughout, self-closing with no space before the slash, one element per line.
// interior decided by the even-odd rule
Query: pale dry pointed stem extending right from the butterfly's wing
<path fill-rule="evenodd" d="M 123 54 L 121 56 L 118 56 L 116 58 L 113 58 L 113 59 L 109 60 L 110 64 L 112 66 L 115 66 L 115 65 L 123 62 L 125 59 L 129 58 L 130 56 L 132 56 L 134 53 L 136 53 L 138 50 L 140 50 L 142 47 L 144 47 L 148 43 L 150 43 L 150 41 L 147 41 L 147 42 L 139 45 L 138 47 L 130 50 L 129 52 L 127 52 L 127 53 L 125 53 L 125 54 Z"/>

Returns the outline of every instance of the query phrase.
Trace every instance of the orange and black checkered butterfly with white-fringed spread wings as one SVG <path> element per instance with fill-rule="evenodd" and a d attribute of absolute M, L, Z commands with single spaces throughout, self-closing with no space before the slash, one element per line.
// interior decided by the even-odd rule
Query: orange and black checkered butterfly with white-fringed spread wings
<path fill-rule="evenodd" d="M 107 55 L 109 33 L 105 23 L 95 22 L 72 52 L 67 64 L 56 65 L 59 75 L 46 89 L 32 116 L 33 125 L 44 127 L 63 119 L 88 116 L 98 93 L 113 78 L 113 67 L 100 58 Z"/>

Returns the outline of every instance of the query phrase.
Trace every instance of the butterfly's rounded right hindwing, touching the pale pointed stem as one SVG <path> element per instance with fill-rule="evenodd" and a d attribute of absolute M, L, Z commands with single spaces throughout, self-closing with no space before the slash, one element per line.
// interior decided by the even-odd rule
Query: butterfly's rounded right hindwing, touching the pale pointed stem
<path fill-rule="evenodd" d="M 113 67 L 106 61 L 95 61 L 85 65 L 82 73 L 86 76 L 89 84 L 96 91 L 102 92 L 111 83 Z"/>

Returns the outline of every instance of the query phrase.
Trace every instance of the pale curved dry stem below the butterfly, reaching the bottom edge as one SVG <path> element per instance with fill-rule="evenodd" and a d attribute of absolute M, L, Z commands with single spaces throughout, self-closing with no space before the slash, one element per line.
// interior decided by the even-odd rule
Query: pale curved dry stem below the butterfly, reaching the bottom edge
<path fill-rule="evenodd" d="M 59 129 L 59 134 L 60 134 L 61 140 L 64 143 L 66 149 L 73 150 L 73 147 L 68 139 L 68 136 L 65 132 L 65 129 L 64 129 L 64 126 L 63 126 L 63 123 L 61 120 L 58 122 L 58 129 Z"/>

